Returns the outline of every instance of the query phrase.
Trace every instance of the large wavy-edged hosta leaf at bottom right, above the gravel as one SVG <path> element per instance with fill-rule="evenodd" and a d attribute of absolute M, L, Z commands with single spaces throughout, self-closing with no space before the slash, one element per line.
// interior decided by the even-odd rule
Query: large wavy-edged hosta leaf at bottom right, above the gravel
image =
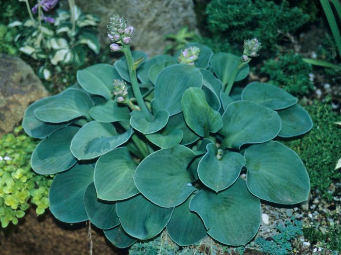
<path fill-rule="evenodd" d="M 200 190 L 189 209 L 199 214 L 209 236 L 227 245 L 245 245 L 256 235 L 261 223 L 261 202 L 247 190 L 241 178 L 217 194 Z"/>

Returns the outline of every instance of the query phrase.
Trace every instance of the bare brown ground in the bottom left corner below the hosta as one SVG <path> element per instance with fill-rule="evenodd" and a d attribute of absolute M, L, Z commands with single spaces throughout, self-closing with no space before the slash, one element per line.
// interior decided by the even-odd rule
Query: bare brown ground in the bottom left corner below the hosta
<path fill-rule="evenodd" d="M 50 212 L 37 217 L 33 209 L 19 221 L 0 231 L 0 255 L 86 255 L 90 253 L 88 225 L 65 224 Z M 93 255 L 127 255 L 117 249 L 99 229 L 92 227 Z"/>

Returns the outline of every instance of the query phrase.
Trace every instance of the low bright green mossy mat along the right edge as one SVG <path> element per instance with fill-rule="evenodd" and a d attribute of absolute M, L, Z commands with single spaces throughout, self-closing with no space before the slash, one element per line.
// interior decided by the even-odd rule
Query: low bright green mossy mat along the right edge
<path fill-rule="evenodd" d="M 328 188 L 333 182 L 341 180 L 341 171 L 334 169 L 341 156 L 341 128 L 334 123 L 340 120 L 340 116 L 332 111 L 330 103 L 314 101 L 304 108 L 313 119 L 313 129 L 284 144 L 303 160 L 309 173 L 311 192 L 319 191 L 323 197 L 331 199 Z"/>

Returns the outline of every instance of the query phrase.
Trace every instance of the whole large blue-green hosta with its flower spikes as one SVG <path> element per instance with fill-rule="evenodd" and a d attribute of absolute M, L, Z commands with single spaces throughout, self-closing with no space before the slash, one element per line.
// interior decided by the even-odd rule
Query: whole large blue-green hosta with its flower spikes
<path fill-rule="evenodd" d="M 273 141 L 308 132 L 307 112 L 264 83 L 229 96 L 261 48 L 256 38 L 241 57 L 193 43 L 148 59 L 130 50 L 123 18 L 108 28 L 111 50 L 124 56 L 79 70 L 77 85 L 34 102 L 23 119 L 42 139 L 33 170 L 56 174 L 49 200 L 58 220 L 90 220 L 117 247 L 164 228 L 180 246 L 207 235 L 244 245 L 259 228 L 261 200 L 307 200 L 301 159 Z"/>

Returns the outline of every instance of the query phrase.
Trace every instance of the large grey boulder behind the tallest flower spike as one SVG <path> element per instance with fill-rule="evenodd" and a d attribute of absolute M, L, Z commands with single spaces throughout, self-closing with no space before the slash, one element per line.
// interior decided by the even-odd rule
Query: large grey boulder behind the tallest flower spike
<path fill-rule="evenodd" d="M 62 4 L 68 8 L 67 0 Z M 103 47 L 110 43 L 109 17 L 118 14 L 135 28 L 132 36 L 135 50 L 145 51 L 149 56 L 163 53 L 164 35 L 177 33 L 183 26 L 190 30 L 196 26 L 192 0 L 78 0 L 77 4 L 82 11 L 101 18 L 99 37 Z"/>

